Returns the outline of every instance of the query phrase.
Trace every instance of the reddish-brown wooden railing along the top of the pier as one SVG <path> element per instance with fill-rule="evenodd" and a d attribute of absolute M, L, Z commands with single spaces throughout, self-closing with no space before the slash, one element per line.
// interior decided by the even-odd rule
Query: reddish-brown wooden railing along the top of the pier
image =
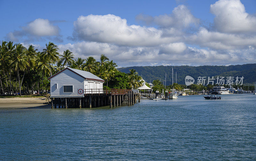
<path fill-rule="evenodd" d="M 84 94 L 126 95 L 131 89 L 84 89 Z"/>

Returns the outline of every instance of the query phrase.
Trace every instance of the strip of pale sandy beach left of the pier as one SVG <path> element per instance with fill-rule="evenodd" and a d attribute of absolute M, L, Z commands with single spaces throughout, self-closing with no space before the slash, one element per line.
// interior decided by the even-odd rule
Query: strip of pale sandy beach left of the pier
<path fill-rule="evenodd" d="M 47 98 L 0 98 L 0 108 L 51 108 Z"/>

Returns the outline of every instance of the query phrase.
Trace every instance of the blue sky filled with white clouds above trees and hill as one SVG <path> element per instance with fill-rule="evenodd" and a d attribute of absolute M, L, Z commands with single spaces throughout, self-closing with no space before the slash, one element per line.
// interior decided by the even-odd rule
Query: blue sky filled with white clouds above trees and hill
<path fill-rule="evenodd" d="M 118 66 L 255 63 L 256 1 L 0 1 L 0 37 Z M 80 17 L 79 17 L 80 16 Z"/>

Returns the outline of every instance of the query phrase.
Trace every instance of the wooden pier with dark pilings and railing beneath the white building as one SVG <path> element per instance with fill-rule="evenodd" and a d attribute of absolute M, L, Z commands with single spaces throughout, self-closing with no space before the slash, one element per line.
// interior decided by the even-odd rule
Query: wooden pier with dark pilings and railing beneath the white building
<path fill-rule="evenodd" d="M 51 102 L 52 108 L 112 108 L 135 104 L 136 94 L 131 89 L 87 90 L 84 97 L 56 97 L 52 98 Z"/>

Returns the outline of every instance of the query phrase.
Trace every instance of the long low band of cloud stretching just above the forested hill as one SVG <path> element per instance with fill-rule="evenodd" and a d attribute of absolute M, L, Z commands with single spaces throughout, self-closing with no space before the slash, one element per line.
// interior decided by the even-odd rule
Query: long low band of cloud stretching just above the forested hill
<path fill-rule="evenodd" d="M 119 67 L 141 65 L 226 65 L 254 63 L 256 50 L 210 50 L 186 47 L 184 43 L 172 43 L 157 47 L 127 47 L 99 42 L 78 42 L 58 45 L 60 53 L 69 49 L 75 58 L 95 57 L 105 54 Z M 180 49 L 180 50 L 179 50 Z"/>

